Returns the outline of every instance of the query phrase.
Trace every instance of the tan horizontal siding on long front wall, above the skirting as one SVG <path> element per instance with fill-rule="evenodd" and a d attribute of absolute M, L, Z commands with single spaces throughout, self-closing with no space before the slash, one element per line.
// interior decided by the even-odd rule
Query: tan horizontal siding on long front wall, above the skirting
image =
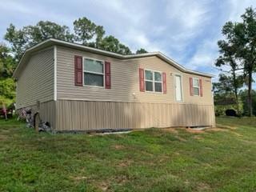
<path fill-rule="evenodd" d="M 101 87 L 74 86 L 74 55 L 111 62 L 111 89 Z M 120 60 L 62 46 L 57 48 L 58 99 L 175 103 L 174 73 L 182 74 L 183 102 L 213 105 L 211 79 L 182 73 L 158 57 Z M 139 91 L 138 68 L 166 72 L 167 94 Z M 190 77 L 202 78 L 203 97 L 190 96 Z"/>

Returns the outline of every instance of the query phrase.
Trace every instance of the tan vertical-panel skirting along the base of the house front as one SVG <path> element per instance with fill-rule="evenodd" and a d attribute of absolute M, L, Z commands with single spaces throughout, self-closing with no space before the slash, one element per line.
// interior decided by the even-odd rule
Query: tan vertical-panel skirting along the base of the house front
<path fill-rule="evenodd" d="M 58 100 L 56 107 L 56 130 L 215 126 L 212 105 Z"/>

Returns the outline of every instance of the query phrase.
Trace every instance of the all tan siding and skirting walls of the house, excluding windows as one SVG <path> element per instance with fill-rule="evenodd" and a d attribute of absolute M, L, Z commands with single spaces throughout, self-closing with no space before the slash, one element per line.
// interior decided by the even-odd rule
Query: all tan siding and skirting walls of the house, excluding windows
<path fill-rule="evenodd" d="M 56 55 L 57 101 L 54 48 L 33 54 L 17 82 L 18 108 L 39 110 L 55 130 L 215 126 L 210 78 L 182 73 L 157 57 L 119 60 L 62 46 Z M 111 62 L 111 89 L 74 86 L 74 55 Z M 166 72 L 167 94 L 140 92 L 140 67 Z M 175 73 L 182 75 L 183 102 L 175 102 Z M 202 78 L 203 97 L 190 96 L 190 77 Z"/>

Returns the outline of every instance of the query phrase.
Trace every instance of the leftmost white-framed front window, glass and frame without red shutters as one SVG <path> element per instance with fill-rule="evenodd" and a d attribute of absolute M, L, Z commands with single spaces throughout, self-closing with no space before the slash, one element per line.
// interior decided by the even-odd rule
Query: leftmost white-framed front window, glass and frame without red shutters
<path fill-rule="evenodd" d="M 84 58 L 84 85 L 104 86 L 104 66 L 103 62 Z"/>

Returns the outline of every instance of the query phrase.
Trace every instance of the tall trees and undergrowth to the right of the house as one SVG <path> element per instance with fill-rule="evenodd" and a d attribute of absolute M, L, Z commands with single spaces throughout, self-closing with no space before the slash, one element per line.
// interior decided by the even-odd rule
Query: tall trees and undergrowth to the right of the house
<path fill-rule="evenodd" d="M 256 115 L 252 87 L 256 72 L 256 11 L 249 7 L 241 18 L 242 22 L 226 22 L 222 28 L 225 39 L 218 41 L 220 55 L 215 62 L 222 73 L 213 85 L 214 100 L 234 98 L 235 110 L 252 116 Z"/>

